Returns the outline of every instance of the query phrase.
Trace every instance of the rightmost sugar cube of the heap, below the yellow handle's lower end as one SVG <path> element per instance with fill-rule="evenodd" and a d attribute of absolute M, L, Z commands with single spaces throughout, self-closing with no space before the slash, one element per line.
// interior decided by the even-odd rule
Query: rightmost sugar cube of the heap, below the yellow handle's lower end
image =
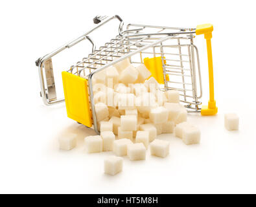
<path fill-rule="evenodd" d="M 196 127 L 186 126 L 183 128 L 182 140 L 185 144 L 200 143 L 200 130 Z"/>

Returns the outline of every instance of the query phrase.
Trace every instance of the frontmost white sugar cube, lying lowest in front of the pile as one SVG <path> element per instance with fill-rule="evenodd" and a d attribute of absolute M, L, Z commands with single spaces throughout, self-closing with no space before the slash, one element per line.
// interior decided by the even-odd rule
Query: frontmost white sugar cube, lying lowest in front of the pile
<path fill-rule="evenodd" d="M 116 175 L 122 171 L 122 157 L 110 156 L 104 159 L 104 173 Z"/>

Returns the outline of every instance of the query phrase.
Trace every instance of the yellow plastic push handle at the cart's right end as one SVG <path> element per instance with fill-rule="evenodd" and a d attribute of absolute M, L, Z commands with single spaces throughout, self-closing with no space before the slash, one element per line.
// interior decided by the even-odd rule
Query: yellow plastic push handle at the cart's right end
<path fill-rule="evenodd" d="M 213 54 L 211 51 L 212 32 L 213 32 L 213 25 L 211 24 L 198 25 L 196 27 L 196 35 L 204 34 L 204 38 L 206 39 L 208 70 L 209 70 L 210 100 L 208 102 L 208 105 L 202 106 L 202 109 L 201 109 L 202 115 L 215 115 L 216 113 L 218 113 L 218 107 L 216 107 L 216 101 L 215 101 L 215 89 L 214 89 L 214 82 L 213 82 Z"/>

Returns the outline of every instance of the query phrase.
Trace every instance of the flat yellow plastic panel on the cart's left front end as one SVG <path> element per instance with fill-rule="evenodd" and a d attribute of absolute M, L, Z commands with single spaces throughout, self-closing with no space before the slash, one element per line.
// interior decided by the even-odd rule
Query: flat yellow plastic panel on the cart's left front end
<path fill-rule="evenodd" d="M 93 121 L 89 104 L 87 80 L 64 71 L 62 72 L 62 82 L 67 116 L 76 122 L 91 127 Z"/>

